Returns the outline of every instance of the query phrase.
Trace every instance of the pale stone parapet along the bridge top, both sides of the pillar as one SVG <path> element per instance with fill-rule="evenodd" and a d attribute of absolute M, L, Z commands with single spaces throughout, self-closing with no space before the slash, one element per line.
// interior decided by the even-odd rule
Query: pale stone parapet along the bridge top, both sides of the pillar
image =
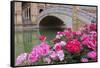
<path fill-rule="evenodd" d="M 61 7 L 52 7 L 52 8 L 46 8 L 43 12 L 38 16 L 38 20 L 42 19 L 43 17 L 49 15 L 49 14 L 62 14 L 72 17 L 72 6 L 61 6 Z M 78 9 L 78 18 L 86 23 L 89 23 L 92 21 L 93 18 L 96 19 L 96 14 L 86 12 L 82 9 Z"/>

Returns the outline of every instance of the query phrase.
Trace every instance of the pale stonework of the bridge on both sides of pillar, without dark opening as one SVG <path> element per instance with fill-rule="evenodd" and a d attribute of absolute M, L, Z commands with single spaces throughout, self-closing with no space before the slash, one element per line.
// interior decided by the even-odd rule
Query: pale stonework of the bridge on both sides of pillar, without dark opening
<path fill-rule="evenodd" d="M 60 19 L 65 26 L 72 27 L 72 14 L 73 14 L 73 7 L 52 7 L 52 8 L 46 8 L 43 10 L 38 18 L 37 18 L 37 26 L 39 27 L 41 24 L 41 21 L 48 17 L 53 16 L 58 19 Z M 83 22 L 90 23 L 93 17 L 96 16 L 94 14 L 88 13 L 83 10 L 78 10 L 78 19 L 82 20 Z M 58 23 L 57 23 L 58 24 Z"/>

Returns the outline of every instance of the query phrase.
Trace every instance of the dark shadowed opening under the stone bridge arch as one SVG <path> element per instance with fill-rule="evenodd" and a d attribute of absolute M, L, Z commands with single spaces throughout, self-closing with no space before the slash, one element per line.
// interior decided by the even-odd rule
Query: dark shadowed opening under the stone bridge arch
<path fill-rule="evenodd" d="M 44 17 L 39 23 L 41 28 L 59 28 L 61 26 L 63 27 L 64 25 L 65 24 L 61 19 L 51 15 Z"/>

